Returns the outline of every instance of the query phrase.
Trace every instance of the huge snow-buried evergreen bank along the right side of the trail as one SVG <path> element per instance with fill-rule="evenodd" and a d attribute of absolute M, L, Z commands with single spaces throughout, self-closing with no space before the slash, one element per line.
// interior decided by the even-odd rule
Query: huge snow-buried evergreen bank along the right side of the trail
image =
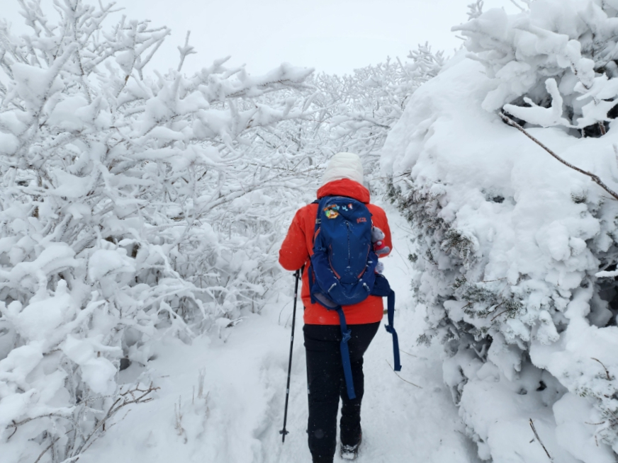
<path fill-rule="evenodd" d="M 419 341 L 444 343 L 445 382 L 494 462 L 546 462 L 534 430 L 554 461 L 617 459 L 618 203 L 498 114 L 512 103 L 534 137 L 618 190 L 611 5 L 536 0 L 458 26 L 472 54 L 415 92 L 383 149 L 417 232 Z M 522 97 L 532 108 L 513 108 Z M 599 123 L 600 138 L 573 129 Z"/>

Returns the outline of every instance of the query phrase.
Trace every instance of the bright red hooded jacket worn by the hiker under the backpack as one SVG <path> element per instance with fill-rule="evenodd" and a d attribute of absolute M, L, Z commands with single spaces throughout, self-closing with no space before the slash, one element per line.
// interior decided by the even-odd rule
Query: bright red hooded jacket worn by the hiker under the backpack
<path fill-rule="evenodd" d="M 347 196 L 355 200 L 364 202 L 371 212 L 373 226 L 378 227 L 384 232 L 386 238 L 386 246 L 393 249 L 391 241 L 391 229 L 388 227 L 386 213 L 373 204 L 369 204 L 369 190 L 360 183 L 348 180 L 332 181 L 322 186 L 318 190 L 318 199 L 325 196 Z M 336 311 L 329 311 L 320 304 L 311 304 L 309 295 L 309 279 L 308 279 L 308 263 L 311 254 L 313 254 L 313 232 L 315 230 L 315 217 L 318 215 L 318 205 L 310 204 L 301 207 L 290 225 L 288 235 L 283 240 L 281 250 L 279 251 L 279 263 L 286 270 L 298 270 L 305 265 L 303 273 L 303 290 L 301 296 L 303 304 L 305 304 L 305 324 L 310 325 L 338 325 L 339 316 Z M 386 255 L 384 255 L 386 256 Z M 381 256 L 381 257 L 384 257 Z M 369 296 L 359 304 L 343 307 L 346 321 L 350 325 L 369 324 L 381 321 L 384 306 L 382 298 L 377 296 Z"/>

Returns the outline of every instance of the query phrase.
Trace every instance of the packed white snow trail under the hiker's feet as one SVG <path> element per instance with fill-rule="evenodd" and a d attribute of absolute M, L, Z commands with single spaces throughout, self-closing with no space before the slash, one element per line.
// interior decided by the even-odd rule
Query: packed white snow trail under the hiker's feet
<path fill-rule="evenodd" d="M 379 204 L 379 202 L 378 202 Z M 378 331 L 365 355 L 363 444 L 358 463 L 476 463 L 476 449 L 450 392 L 442 382 L 442 346 L 416 345 L 423 314 L 412 307 L 410 229 L 390 205 L 394 251 L 385 274 L 397 292 L 395 328 L 403 370 L 395 375 L 391 336 Z M 168 338 L 159 345 L 144 377 L 157 387 L 157 399 L 135 407 L 82 457 L 84 463 L 287 463 L 311 461 L 305 433 L 307 382 L 298 304 L 288 431 L 283 425 L 292 313 L 289 294 L 233 328 L 221 328 L 186 345 Z M 203 394 L 200 372 L 203 372 Z M 132 366 L 126 381 L 140 372 Z M 413 386 L 417 384 L 419 387 Z M 335 462 L 342 461 L 338 454 Z"/>

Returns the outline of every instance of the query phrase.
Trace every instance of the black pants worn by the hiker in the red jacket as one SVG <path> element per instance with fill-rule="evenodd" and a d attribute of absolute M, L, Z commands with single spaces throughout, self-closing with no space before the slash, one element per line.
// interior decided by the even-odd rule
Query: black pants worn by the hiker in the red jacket
<path fill-rule="evenodd" d="M 305 325 L 307 384 L 309 396 L 309 450 L 314 462 L 332 462 L 337 447 L 337 411 L 342 398 L 341 442 L 356 445 L 361 434 L 361 401 L 364 392 L 363 355 L 380 322 L 349 325 L 348 341 L 356 399 L 347 395 L 341 361 L 339 325 Z"/>

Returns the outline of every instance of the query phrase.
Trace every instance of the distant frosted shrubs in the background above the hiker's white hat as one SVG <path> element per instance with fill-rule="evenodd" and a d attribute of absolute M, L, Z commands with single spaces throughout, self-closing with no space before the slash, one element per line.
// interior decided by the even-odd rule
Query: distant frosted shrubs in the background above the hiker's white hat
<path fill-rule="evenodd" d="M 445 61 L 443 52 L 434 53 L 425 44 L 411 51 L 405 62 L 386 59 L 344 76 L 310 76 L 307 82 L 315 88 L 313 95 L 307 94 L 310 117 L 259 129 L 254 147 L 286 154 L 291 165 L 302 167 L 296 176 L 307 178 L 316 187 L 318 167 L 337 152 L 358 153 L 366 172 L 371 173 L 378 151 L 410 95 L 436 76 Z M 381 182 L 374 185 L 381 188 Z"/>

